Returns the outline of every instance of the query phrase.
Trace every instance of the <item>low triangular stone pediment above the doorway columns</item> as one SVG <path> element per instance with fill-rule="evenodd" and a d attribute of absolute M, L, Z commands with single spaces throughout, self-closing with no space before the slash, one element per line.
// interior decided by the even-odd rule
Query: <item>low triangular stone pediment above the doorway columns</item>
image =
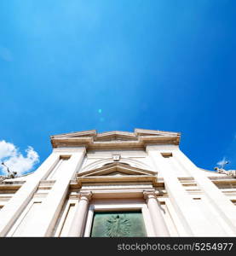
<path fill-rule="evenodd" d="M 156 172 L 143 170 L 133 166 L 126 166 L 120 163 L 112 163 L 100 168 L 87 172 L 78 173 L 78 177 L 95 177 L 95 176 L 153 176 Z"/>

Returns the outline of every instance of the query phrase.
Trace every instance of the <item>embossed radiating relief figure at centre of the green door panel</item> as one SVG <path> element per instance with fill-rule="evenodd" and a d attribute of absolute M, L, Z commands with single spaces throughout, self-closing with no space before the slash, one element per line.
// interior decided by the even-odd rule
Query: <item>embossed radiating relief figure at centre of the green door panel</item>
<path fill-rule="evenodd" d="M 124 237 L 130 234 L 130 219 L 119 214 L 106 219 L 106 236 Z"/>

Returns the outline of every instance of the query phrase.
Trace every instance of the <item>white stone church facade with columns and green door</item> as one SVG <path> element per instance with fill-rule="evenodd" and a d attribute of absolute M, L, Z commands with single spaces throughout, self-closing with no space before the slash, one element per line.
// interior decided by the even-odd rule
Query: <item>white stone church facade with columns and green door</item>
<path fill-rule="evenodd" d="M 143 129 L 51 136 L 35 172 L 0 183 L 0 236 L 236 236 L 235 175 L 195 166 L 180 138 Z"/>

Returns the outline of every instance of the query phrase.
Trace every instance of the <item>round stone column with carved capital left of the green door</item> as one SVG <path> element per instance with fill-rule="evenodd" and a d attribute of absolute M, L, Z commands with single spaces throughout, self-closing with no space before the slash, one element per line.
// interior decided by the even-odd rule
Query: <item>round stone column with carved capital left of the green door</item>
<path fill-rule="evenodd" d="M 89 201 L 92 197 L 91 192 L 82 192 L 79 195 L 78 206 L 75 210 L 74 218 L 72 219 L 72 226 L 69 230 L 68 236 L 81 237 L 83 232 L 83 225 L 88 212 Z"/>

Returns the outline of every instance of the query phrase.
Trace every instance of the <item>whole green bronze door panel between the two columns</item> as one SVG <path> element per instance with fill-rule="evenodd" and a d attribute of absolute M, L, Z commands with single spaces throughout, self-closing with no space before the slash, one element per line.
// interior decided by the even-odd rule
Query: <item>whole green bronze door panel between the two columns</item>
<path fill-rule="evenodd" d="M 145 237 L 141 211 L 95 212 L 90 236 Z"/>

